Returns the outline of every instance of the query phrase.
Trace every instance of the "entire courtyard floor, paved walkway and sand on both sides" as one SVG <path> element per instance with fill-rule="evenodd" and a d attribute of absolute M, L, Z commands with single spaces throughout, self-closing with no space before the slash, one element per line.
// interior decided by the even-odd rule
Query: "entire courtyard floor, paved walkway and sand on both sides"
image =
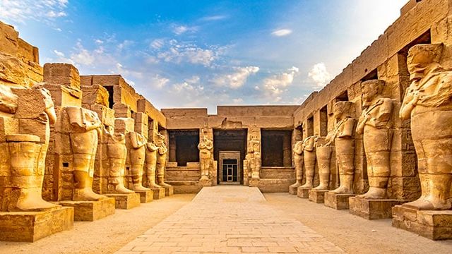
<path fill-rule="evenodd" d="M 173 195 L 0 253 L 451 253 L 431 241 L 288 193 L 244 186 Z"/>

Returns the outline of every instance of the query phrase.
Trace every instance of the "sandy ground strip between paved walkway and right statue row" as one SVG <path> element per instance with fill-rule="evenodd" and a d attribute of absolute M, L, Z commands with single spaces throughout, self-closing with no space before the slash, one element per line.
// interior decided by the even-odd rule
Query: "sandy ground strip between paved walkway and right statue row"
<path fill-rule="evenodd" d="M 391 226 L 391 219 L 368 221 L 288 193 L 264 194 L 268 205 L 325 236 L 347 253 L 452 253 L 452 240 L 432 241 Z"/>

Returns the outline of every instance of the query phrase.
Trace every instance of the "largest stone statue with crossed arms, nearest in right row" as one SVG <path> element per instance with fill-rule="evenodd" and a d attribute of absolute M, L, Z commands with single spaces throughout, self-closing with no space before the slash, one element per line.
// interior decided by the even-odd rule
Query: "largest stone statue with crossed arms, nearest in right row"
<path fill-rule="evenodd" d="M 411 84 L 401 119 L 411 119 L 421 197 L 404 206 L 419 210 L 452 208 L 452 70 L 440 64 L 443 44 L 418 44 L 408 52 Z"/>

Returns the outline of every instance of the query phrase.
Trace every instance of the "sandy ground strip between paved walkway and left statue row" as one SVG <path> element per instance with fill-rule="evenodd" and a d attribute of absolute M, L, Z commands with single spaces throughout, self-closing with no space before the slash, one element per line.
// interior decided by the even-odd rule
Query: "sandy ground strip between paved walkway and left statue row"
<path fill-rule="evenodd" d="M 194 196 L 173 195 L 131 210 L 117 209 L 112 216 L 95 222 L 74 222 L 72 230 L 42 238 L 35 243 L 0 241 L 0 253 L 114 253 L 191 202 Z"/>

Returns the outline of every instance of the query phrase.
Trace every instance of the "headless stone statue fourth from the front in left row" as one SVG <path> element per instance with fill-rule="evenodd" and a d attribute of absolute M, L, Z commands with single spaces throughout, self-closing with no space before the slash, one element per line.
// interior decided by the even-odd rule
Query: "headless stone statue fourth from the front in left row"
<path fill-rule="evenodd" d="M 126 143 L 129 152 L 129 162 L 131 165 L 131 178 L 133 191 L 150 191 L 143 187 L 143 170 L 146 153 L 146 139 L 135 131 L 126 134 Z"/>

